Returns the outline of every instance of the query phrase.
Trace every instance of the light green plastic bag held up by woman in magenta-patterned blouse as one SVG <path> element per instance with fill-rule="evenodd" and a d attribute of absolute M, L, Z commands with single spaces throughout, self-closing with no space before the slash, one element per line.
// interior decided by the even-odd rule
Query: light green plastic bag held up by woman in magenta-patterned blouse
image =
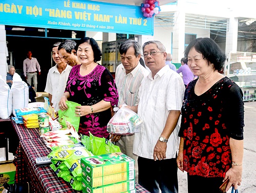
<path fill-rule="evenodd" d="M 62 125 L 63 128 L 69 128 L 71 127 L 70 125 L 72 125 L 78 132 L 80 117 L 76 116 L 75 109 L 76 106 L 81 105 L 72 101 L 66 101 L 66 104 L 69 107 L 66 111 L 58 111 L 59 124 Z"/>

